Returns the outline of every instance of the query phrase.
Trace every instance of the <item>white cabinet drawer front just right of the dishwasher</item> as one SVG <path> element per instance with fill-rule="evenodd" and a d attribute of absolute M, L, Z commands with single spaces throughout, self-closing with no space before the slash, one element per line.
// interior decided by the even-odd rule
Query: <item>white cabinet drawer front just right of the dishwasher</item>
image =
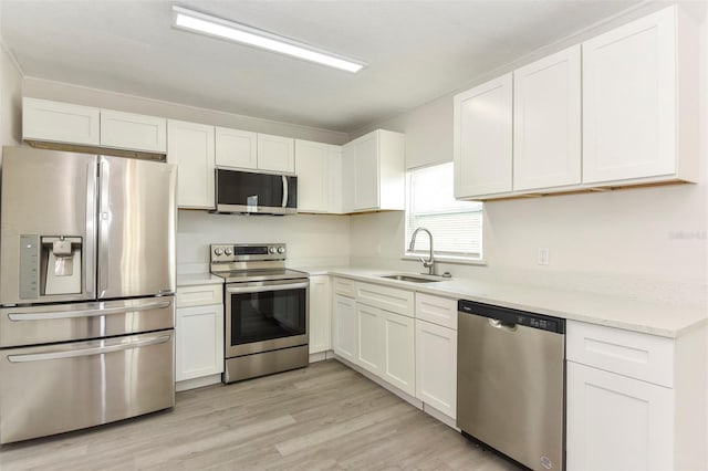
<path fill-rule="evenodd" d="M 569 321 L 568 359 L 656 385 L 674 385 L 674 341 Z"/>

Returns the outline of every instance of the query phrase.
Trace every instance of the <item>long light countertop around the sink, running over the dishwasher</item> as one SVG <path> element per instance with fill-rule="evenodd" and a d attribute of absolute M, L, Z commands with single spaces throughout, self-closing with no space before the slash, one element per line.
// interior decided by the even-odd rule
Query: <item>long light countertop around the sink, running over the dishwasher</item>
<path fill-rule="evenodd" d="M 663 337 L 679 337 L 708 323 L 708 307 L 683 307 L 550 286 L 455 278 L 434 283 L 412 283 L 381 278 L 383 274 L 399 273 L 392 270 L 341 266 L 294 269 L 311 275 L 329 274 L 375 282 L 419 293 L 477 301 Z"/>

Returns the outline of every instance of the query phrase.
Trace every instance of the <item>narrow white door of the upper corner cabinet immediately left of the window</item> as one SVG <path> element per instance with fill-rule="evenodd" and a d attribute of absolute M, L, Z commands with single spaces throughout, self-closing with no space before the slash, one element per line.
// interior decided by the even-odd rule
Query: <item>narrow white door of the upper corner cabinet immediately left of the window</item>
<path fill-rule="evenodd" d="M 371 133 L 355 142 L 354 210 L 378 208 L 378 133 Z M 348 178 L 351 178 L 350 176 Z"/>

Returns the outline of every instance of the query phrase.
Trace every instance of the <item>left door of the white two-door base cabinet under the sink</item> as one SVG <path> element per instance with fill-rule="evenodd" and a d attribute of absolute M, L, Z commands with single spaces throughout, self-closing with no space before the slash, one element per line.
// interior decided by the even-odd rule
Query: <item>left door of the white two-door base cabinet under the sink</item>
<path fill-rule="evenodd" d="M 384 312 L 378 307 L 356 303 L 358 355 L 356 363 L 376 376 L 383 375 Z"/>

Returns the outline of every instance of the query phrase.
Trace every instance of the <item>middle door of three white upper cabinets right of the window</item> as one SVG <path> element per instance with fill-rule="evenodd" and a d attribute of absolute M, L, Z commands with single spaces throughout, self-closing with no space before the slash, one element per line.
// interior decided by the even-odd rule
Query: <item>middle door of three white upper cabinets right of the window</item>
<path fill-rule="evenodd" d="M 580 45 L 513 73 L 513 189 L 580 184 Z"/>

